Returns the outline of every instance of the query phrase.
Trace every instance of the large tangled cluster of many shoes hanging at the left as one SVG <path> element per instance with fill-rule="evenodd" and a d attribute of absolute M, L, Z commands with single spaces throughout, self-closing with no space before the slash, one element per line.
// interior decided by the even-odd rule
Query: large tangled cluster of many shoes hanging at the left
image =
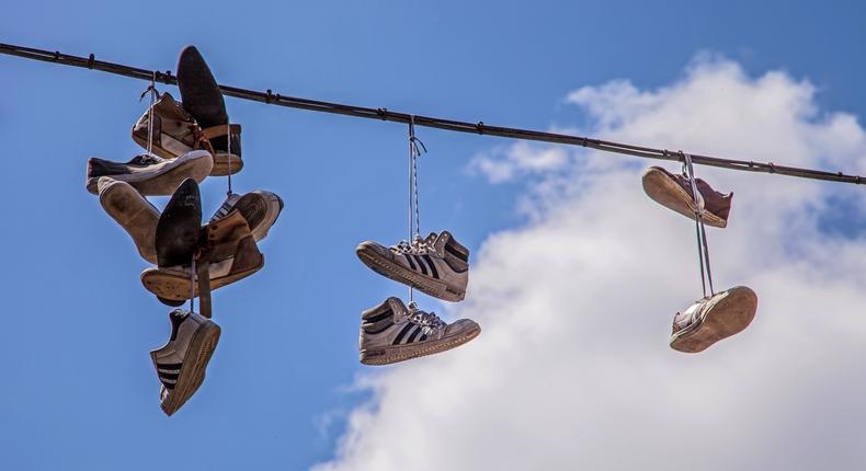
<path fill-rule="evenodd" d="M 198 50 L 189 46 L 178 61 L 181 102 L 160 94 L 155 81 L 141 95 L 150 106 L 133 126 L 133 140 L 147 150 L 126 163 L 91 158 L 87 188 L 132 237 L 141 257 L 156 266 L 141 284 L 164 305 L 190 309 L 169 313 L 171 335 L 150 353 L 160 380 L 160 405 L 172 415 L 202 386 L 219 341 L 210 291 L 264 266 L 258 242 L 283 209 L 275 194 L 231 191 L 231 175 L 243 168 L 240 126 L 229 124 L 223 94 Z M 202 223 L 198 183 L 228 176 L 228 195 Z M 145 196 L 171 195 L 160 212 Z M 195 299 L 200 300 L 198 312 Z"/>

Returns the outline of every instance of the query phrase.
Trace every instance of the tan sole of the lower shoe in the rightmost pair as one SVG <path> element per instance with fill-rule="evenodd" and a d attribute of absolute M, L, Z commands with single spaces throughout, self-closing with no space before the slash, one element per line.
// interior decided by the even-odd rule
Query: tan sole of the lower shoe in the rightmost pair
<path fill-rule="evenodd" d="M 683 353 L 703 352 L 745 330 L 756 311 L 757 295 L 745 286 L 736 286 L 709 309 L 703 309 L 693 324 L 674 333 L 671 348 Z"/>

